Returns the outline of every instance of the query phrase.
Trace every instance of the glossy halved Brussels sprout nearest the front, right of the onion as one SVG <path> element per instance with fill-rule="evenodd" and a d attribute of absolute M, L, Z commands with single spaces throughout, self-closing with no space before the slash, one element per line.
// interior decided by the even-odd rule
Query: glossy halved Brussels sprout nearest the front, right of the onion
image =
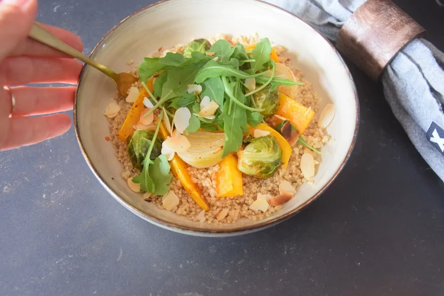
<path fill-rule="evenodd" d="M 282 164 L 282 149 L 273 136 L 253 139 L 237 153 L 237 168 L 259 179 L 270 177 Z"/>

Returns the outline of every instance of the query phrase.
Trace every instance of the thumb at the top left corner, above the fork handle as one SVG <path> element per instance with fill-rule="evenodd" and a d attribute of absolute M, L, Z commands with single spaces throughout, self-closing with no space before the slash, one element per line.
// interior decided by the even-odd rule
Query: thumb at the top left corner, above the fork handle
<path fill-rule="evenodd" d="M 37 0 L 0 0 L 0 61 L 26 38 L 37 13 Z"/>

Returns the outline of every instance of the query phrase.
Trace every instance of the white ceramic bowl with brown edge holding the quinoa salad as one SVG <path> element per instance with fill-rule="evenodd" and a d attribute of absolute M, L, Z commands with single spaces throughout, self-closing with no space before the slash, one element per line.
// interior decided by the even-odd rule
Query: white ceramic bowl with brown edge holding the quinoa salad
<path fill-rule="evenodd" d="M 234 7 L 234 8 L 233 8 Z M 283 209 L 260 221 L 241 220 L 212 225 L 191 222 L 160 210 L 133 193 L 120 176 L 122 167 L 114 156 L 108 122 L 102 115 L 116 94 L 111 80 L 86 66 L 80 76 L 74 123 L 82 153 L 99 182 L 127 209 L 163 228 L 192 235 L 229 236 L 257 231 L 293 216 L 316 199 L 336 178 L 355 144 L 359 105 L 353 79 L 333 45 L 313 27 L 276 6 L 258 0 L 168 0 L 150 5 L 124 19 L 97 44 L 91 57 L 116 72 L 130 70 L 129 60 L 144 57 L 195 37 L 218 34 L 269 37 L 293 54 L 295 68 L 312 82 L 322 105 L 333 102 L 335 115 L 327 128 L 332 140 L 322 151 L 314 184 L 304 184 Z"/>

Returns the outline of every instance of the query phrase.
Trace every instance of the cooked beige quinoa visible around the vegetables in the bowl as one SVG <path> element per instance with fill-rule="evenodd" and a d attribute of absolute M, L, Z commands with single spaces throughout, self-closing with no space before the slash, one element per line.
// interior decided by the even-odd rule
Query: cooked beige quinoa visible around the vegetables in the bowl
<path fill-rule="evenodd" d="M 217 39 L 225 38 L 228 41 L 231 40 L 228 36 L 218 36 L 211 38 L 210 42 L 214 42 Z M 256 43 L 259 40 L 258 36 L 254 37 L 238 37 L 233 38 L 233 42 L 239 42 L 243 45 L 249 45 Z M 167 52 L 180 52 L 182 53 L 185 46 L 177 45 L 169 50 L 159 50 L 154 53 L 153 57 L 164 56 Z M 275 52 L 279 57 L 280 63 L 286 65 L 292 69 L 290 58 L 286 57 L 285 49 L 282 46 L 274 46 Z M 133 61 L 128 61 L 128 65 L 131 65 Z M 137 68 L 129 72 L 135 76 L 137 74 Z M 303 82 L 303 85 L 297 87 L 297 96 L 293 97 L 294 100 L 298 101 L 305 107 L 311 108 L 313 111 L 317 112 L 319 110 L 318 94 L 313 90 L 312 85 L 309 81 L 304 79 L 303 74 L 297 70 L 294 70 L 294 74 L 298 81 Z M 134 83 L 135 87 L 139 90 L 142 89 L 142 85 L 139 82 Z M 129 110 L 131 109 L 132 103 L 127 103 L 125 98 L 116 98 L 121 111 L 113 118 L 108 118 L 110 125 L 110 136 L 109 140 L 115 149 L 115 156 L 122 164 L 121 176 L 123 179 L 127 180 L 130 177 L 134 177 L 140 174 L 140 171 L 133 167 L 131 160 L 127 153 L 127 144 L 121 141 L 117 134 L 122 126 Z M 154 117 L 159 115 L 159 111 L 154 112 Z M 319 119 L 318 112 L 315 114 L 311 120 L 309 126 L 305 129 L 303 136 L 306 142 L 308 142 L 313 148 L 320 149 L 328 141 L 329 136 L 325 134 L 322 128 L 317 126 Z M 303 174 L 300 170 L 300 159 L 303 153 L 311 153 L 315 160 L 317 159 L 317 153 L 311 152 L 306 147 L 295 145 L 293 147 L 293 152 L 288 163 L 288 167 L 284 170 L 283 166 L 279 168 L 270 178 L 267 179 L 257 179 L 252 176 L 243 175 L 243 196 L 230 197 L 218 197 L 216 193 L 216 172 L 219 170 L 219 165 L 214 167 L 198 169 L 189 166 L 188 171 L 192 178 L 192 182 L 199 186 L 202 191 L 203 197 L 210 208 L 209 211 L 205 212 L 205 222 L 218 224 L 218 223 L 233 223 L 238 221 L 240 218 L 245 217 L 252 221 L 264 219 L 269 217 L 274 212 L 278 211 L 282 206 L 269 206 L 266 212 L 253 211 L 249 206 L 256 200 L 258 193 L 270 194 L 272 196 L 279 194 L 279 184 L 283 180 L 289 181 L 296 189 L 298 186 L 305 182 L 310 182 L 304 179 Z M 185 216 L 191 221 L 200 221 L 203 219 L 198 217 L 199 213 L 203 210 L 193 201 L 193 199 L 186 193 L 185 189 L 182 187 L 180 181 L 173 176 L 170 183 L 170 190 L 173 190 L 179 198 L 180 202 L 178 206 L 172 209 L 172 212 Z M 142 198 L 142 194 L 141 194 Z M 146 199 L 147 202 L 154 203 L 157 207 L 164 209 L 162 205 L 162 196 L 154 196 Z M 226 213 L 226 215 L 224 215 Z M 219 215 L 218 215 L 219 214 Z"/>

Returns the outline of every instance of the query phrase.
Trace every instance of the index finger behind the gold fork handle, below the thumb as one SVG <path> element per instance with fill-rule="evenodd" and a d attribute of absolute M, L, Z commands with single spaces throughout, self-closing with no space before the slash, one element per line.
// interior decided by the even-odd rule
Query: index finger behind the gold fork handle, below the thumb
<path fill-rule="evenodd" d="M 54 37 L 59 38 L 63 42 L 71 45 L 78 51 L 82 52 L 83 43 L 80 37 L 75 35 L 73 32 L 68 30 L 53 27 L 45 24 L 37 23 L 40 27 L 44 28 L 46 31 L 51 33 Z M 60 57 L 60 58 L 71 58 L 71 56 L 58 51 L 52 47 L 49 47 L 37 40 L 27 37 L 26 39 L 20 41 L 17 46 L 12 50 L 11 56 L 39 56 L 39 57 Z"/>

